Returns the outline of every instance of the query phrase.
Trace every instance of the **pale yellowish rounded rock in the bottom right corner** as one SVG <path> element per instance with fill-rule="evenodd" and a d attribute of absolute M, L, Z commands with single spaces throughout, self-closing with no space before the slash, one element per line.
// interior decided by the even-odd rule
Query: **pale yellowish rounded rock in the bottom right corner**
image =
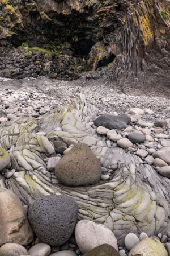
<path fill-rule="evenodd" d="M 168 256 L 167 250 L 163 244 L 155 238 L 146 238 L 137 243 L 137 245 L 131 249 L 129 256 L 141 254 L 142 256 Z"/>

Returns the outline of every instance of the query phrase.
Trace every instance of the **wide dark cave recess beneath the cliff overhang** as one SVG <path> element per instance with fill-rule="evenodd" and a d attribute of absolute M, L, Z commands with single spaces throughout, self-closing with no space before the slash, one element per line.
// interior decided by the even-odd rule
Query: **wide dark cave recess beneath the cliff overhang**
<path fill-rule="evenodd" d="M 10 43 L 15 47 L 27 42 L 29 47 L 40 47 L 73 57 L 87 57 L 97 42 L 99 28 L 87 20 L 88 13 L 48 13 L 52 21 L 41 19 L 38 12 L 29 15 L 31 22 L 28 26 L 25 20 L 24 32 L 22 28 L 13 29 Z"/>

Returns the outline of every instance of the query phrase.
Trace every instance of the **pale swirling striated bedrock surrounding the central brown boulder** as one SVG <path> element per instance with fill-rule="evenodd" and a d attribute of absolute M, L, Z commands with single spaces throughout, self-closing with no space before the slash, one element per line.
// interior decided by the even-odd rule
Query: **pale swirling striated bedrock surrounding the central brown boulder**
<path fill-rule="evenodd" d="M 107 137 L 97 135 L 89 122 L 99 110 L 83 96 L 74 96 L 69 108 L 58 108 L 43 118 L 14 118 L 1 126 L 0 144 L 11 157 L 16 172 L 10 179 L 1 176 L 1 188 L 13 191 L 23 204 L 49 195 L 72 197 L 78 204 L 78 219 L 92 220 L 113 230 L 119 242 L 128 233 L 148 235 L 169 229 L 169 179 L 143 164 L 137 155 L 115 146 Z M 46 135 L 37 134 L 44 131 Z M 55 156 L 52 138 L 69 144 L 86 143 L 103 167 L 118 161 L 118 168 L 107 183 L 67 187 L 49 172 L 45 158 Z M 147 179 L 146 179 L 147 176 Z"/>

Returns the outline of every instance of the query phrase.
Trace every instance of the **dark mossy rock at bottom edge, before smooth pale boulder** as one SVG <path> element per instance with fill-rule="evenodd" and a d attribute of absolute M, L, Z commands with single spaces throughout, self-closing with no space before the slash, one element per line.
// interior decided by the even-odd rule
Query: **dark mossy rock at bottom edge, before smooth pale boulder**
<path fill-rule="evenodd" d="M 113 246 L 105 244 L 95 247 L 83 256 L 120 256 L 120 254 Z"/>

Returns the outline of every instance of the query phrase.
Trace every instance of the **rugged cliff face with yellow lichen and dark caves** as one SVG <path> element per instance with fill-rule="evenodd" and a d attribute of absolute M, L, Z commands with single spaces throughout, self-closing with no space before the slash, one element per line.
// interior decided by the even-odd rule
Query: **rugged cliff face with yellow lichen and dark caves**
<path fill-rule="evenodd" d="M 169 0 L 0 0 L 1 56 L 12 51 L 1 75 L 11 68 L 13 77 L 69 79 L 95 70 L 125 93 L 148 85 L 168 92 L 169 28 Z M 16 65 L 16 55 L 29 63 Z"/>

